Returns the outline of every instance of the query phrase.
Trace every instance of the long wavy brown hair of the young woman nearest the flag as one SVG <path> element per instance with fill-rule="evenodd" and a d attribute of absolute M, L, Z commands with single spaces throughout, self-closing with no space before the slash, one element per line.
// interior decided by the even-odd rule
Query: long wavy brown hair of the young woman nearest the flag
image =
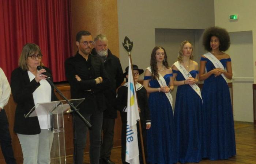
<path fill-rule="evenodd" d="M 167 62 L 167 54 L 166 54 L 165 48 L 163 48 L 161 46 L 155 46 L 152 50 L 151 59 L 150 59 L 152 79 L 158 79 L 159 78 L 158 71 L 157 71 L 158 70 L 158 68 L 157 68 L 157 59 L 155 58 L 156 52 L 159 49 L 163 50 L 165 52 L 165 58 L 164 58 L 164 61 L 163 61 L 163 66 L 165 66 L 166 69 L 169 69 L 169 65 L 168 65 L 168 62 Z"/>

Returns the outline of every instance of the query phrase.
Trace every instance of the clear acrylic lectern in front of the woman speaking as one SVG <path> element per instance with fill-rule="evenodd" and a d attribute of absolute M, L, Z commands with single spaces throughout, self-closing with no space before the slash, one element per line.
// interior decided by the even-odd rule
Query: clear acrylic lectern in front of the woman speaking
<path fill-rule="evenodd" d="M 84 98 L 69 100 L 77 107 Z M 25 117 L 47 117 L 51 164 L 66 164 L 64 113 L 71 112 L 65 100 L 36 104 Z M 39 148 L 40 149 L 40 148 Z"/>

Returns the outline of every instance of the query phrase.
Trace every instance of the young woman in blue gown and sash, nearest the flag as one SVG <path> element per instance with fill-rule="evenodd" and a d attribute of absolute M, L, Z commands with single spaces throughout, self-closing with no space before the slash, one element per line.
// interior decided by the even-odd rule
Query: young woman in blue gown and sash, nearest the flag
<path fill-rule="evenodd" d="M 176 136 L 170 95 L 173 90 L 172 69 L 167 63 L 163 47 L 153 49 L 150 67 L 144 75 L 143 86 L 149 93 L 151 113 L 151 128 L 147 131 L 147 161 L 151 164 L 176 163 Z"/>

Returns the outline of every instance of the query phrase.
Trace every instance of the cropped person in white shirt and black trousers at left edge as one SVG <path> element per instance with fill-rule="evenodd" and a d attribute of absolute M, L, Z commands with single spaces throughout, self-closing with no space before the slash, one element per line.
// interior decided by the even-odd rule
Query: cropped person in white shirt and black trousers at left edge
<path fill-rule="evenodd" d="M 8 103 L 10 94 L 11 87 L 4 74 L 4 71 L 0 68 L 0 144 L 5 162 L 7 164 L 16 164 L 12 150 L 9 124 L 4 110 L 4 106 Z"/>

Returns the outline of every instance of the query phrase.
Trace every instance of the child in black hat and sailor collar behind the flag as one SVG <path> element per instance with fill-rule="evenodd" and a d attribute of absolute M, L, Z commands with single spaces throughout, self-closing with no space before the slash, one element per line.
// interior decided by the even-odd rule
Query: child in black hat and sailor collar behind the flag
<path fill-rule="evenodd" d="M 138 83 L 139 75 L 142 74 L 144 71 L 139 69 L 137 65 L 133 66 L 133 74 L 134 74 L 134 83 L 136 86 L 136 93 L 138 99 L 138 107 L 139 107 L 139 114 L 140 114 L 140 122 L 142 125 L 142 136 L 143 136 L 143 144 L 144 144 L 144 152 L 145 156 L 147 156 L 147 147 L 146 147 L 146 129 L 150 129 L 150 110 L 148 108 L 148 98 L 147 98 L 147 91 L 143 85 Z M 124 77 L 128 80 L 128 69 L 126 67 Z M 122 119 L 122 131 L 121 131 L 121 158 L 123 164 L 128 164 L 125 162 L 125 152 L 126 152 L 126 124 L 127 124 L 127 93 L 128 93 L 128 82 L 124 83 L 118 91 L 117 91 L 117 98 L 116 98 L 116 107 L 117 110 L 120 111 L 121 119 Z M 143 163 L 142 160 L 142 151 L 141 151 L 141 143 L 140 143 L 140 132 L 139 132 L 139 123 L 137 124 L 137 131 L 138 131 L 138 144 L 139 144 L 139 158 L 140 163 Z"/>

